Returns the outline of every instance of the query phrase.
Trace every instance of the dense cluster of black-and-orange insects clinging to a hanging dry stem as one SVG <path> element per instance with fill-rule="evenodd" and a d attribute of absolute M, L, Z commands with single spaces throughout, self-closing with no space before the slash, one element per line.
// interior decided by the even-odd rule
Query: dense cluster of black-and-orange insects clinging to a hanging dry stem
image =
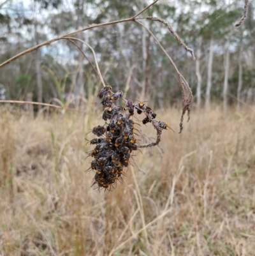
<path fill-rule="evenodd" d="M 91 162 L 91 167 L 88 170 L 96 172 L 94 184 L 98 188 L 110 190 L 114 188 L 114 184 L 119 180 L 122 181 L 124 167 L 128 167 L 129 160 L 133 156 L 133 151 L 139 147 L 156 146 L 161 140 L 161 132 L 163 129 L 168 129 L 169 126 L 161 121 L 156 121 L 156 113 L 150 107 L 147 107 L 144 102 L 134 104 L 132 100 L 122 98 L 123 92 L 112 92 L 111 86 L 105 86 L 98 94 L 98 97 L 103 99 L 103 119 L 105 125 L 98 125 L 92 129 L 92 133 L 98 138 L 92 139 L 89 142 L 95 144 L 94 150 L 88 152 L 94 160 Z M 126 102 L 123 106 L 114 104 L 115 100 L 122 99 Z M 145 114 L 142 120 L 143 124 L 152 123 L 157 130 L 156 142 L 140 145 L 135 133 L 135 122 L 132 117 L 135 114 Z"/>

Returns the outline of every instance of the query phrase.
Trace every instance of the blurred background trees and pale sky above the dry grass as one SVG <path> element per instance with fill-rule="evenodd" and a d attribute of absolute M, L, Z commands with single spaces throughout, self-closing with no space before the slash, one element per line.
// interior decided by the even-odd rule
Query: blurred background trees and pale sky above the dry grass
<path fill-rule="evenodd" d="M 0 3 L 0 29 L 3 31 L 0 61 L 3 63 L 37 43 L 89 24 L 132 17 L 147 4 L 145 0 L 4 1 Z M 166 27 L 159 22 L 142 20 L 189 82 L 195 101 L 200 97 L 202 102 L 205 100 L 209 79 L 212 101 L 222 101 L 223 84 L 227 82 L 229 95 L 238 96 L 244 102 L 254 102 L 255 17 L 252 4 L 249 4 L 247 20 L 238 28 L 235 22 L 242 16 L 244 1 L 159 1 L 141 15 L 167 20 L 186 45 L 195 53 L 200 50 L 197 59 L 200 65 L 197 66 Z M 98 27 L 76 36 L 96 51 L 106 83 L 128 90 L 127 98 L 140 95 L 142 100 L 152 99 L 157 107 L 181 100 L 173 66 L 154 38 L 135 22 Z M 84 46 L 82 49 L 94 63 L 91 50 Z M 226 52 L 229 52 L 229 66 L 226 65 Z M 208 64 L 210 56 L 212 63 Z M 208 68 L 211 70 L 209 78 Z M 198 74 L 201 75 L 201 96 L 197 93 Z M 129 86 L 126 85 L 128 77 Z M 6 99 L 10 100 L 24 100 L 27 93 L 33 93 L 35 101 L 49 102 L 58 98 L 64 102 L 68 97 L 82 97 L 86 102 L 98 90 L 99 79 L 77 47 L 61 40 L 4 66 L 0 70 L 0 84 L 6 88 Z"/>

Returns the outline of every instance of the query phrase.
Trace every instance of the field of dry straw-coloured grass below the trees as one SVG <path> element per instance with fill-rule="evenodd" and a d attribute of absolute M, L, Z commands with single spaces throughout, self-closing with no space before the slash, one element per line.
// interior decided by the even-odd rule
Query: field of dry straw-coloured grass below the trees
<path fill-rule="evenodd" d="M 0 255 L 255 255 L 255 111 L 193 111 L 181 134 L 180 109 L 156 112 L 175 130 L 164 154 L 137 151 L 146 174 L 133 163 L 99 193 L 84 172 L 99 113 L 1 107 Z"/>

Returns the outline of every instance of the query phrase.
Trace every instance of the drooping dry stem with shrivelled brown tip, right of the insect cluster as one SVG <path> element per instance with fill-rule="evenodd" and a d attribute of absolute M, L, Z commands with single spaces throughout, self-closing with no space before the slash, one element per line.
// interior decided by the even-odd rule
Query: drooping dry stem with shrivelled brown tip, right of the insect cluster
<path fill-rule="evenodd" d="M 188 120 L 187 121 L 189 121 L 189 118 L 190 118 L 190 111 L 191 110 L 189 109 L 189 105 L 191 104 L 191 102 L 193 100 L 193 94 L 192 94 L 191 88 L 189 87 L 189 84 L 184 79 L 184 77 L 182 77 L 182 75 L 180 74 L 177 66 L 175 65 L 175 63 L 173 62 L 171 57 L 168 55 L 166 50 L 164 50 L 164 47 L 161 45 L 161 43 L 159 43 L 159 40 L 157 40 L 156 36 L 152 33 L 152 31 L 150 31 L 150 29 L 148 29 L 148 27 L 144 26 L 138 20 L 136 20 L 136 22 L 138 24 L 140 24 L 141 26 L 145 27 L 145 29 L 147 29 L 147 31 L 154 37 L 154 39 L 156 40 L 156 42 L 159 45 L 159 47 L 163 50 L 164 54 L 166 54 L 168 59 L 170 59 L 171 64 L 173 64 L 173 67 L 175 68 L 175 70 L 176 70 L 176 72 L 177 72 L 177 74 L 179 76 L 180 87 L 182 88 L 182 100 L 183 100 L 183 103 L 184 103 L 184 108 L 182 109 L 182 116 L 180 117 L 180 130 L 179 130 L 179 133 L 181 133 L 182 129 L 183 129 L 183 117 L 184 117 L 184 114 L 186 113 L 186 111 L 188 113 Z"/>

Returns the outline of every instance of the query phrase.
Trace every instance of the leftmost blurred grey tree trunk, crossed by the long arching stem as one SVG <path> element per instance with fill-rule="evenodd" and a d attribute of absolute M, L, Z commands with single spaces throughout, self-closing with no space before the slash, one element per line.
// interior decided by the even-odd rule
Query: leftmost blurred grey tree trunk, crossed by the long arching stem
<path fill-rule="evenodd" d="M 34 26 L 34 39 L 36 41 L 36 45 L 39 44 L 39 40 L 38 40 L 38 28 L 37 25 Z M 41 82 L 41 69 L 40 69 L 40 65 L 41 65 L 41 61 L 40 61 L 40 49 L 36 50 L 36 86 L 37 86 L 37 101 L 38 102 L 43 102 L 43 84 Z M 41 105 L 38 105 L 38 110 L 41 109 Z"/>

